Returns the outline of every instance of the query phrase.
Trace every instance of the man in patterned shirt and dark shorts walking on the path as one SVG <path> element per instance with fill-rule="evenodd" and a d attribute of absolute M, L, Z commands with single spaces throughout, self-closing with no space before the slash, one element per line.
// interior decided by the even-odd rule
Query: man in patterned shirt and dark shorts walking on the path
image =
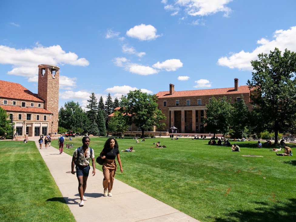
<path fill-rule="evenodd" d="M 93 165 L 93 176 L 96 174 L 96 163 L 95 163 L 95 153 L 92 148 L 89 147 L 90 139 L 88 137 L 82 138 L 82 146 L 77 148 L 72 157 L 71 163 L 71 173 L 75 174 L 74 172 L 74 163 L 76 164 L 76 176 L 78 179 L 78 192 L 80 196 L 80 204 L 79 206 L 82 207 L 84 205 L 84 201 L 87 198 L 84 196 L 86 190 L 86 182 L 89 175 L 89 162 L 90 159 L 92 160 Z"/>

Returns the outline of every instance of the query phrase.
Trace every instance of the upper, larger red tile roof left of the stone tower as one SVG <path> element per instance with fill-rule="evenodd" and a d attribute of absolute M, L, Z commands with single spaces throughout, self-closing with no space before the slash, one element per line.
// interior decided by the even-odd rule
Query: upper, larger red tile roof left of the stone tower
<path fill-rule="evenodd" d="M 32 93 L 21 84 L 3 80 L 0 80 L 0 97 L 44 102 L 38 94 Z"/>

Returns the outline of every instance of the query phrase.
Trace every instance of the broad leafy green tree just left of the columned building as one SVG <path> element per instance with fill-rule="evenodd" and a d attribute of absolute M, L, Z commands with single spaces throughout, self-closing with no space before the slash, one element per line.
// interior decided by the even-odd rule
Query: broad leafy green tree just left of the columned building
<path fill-rule="evenodd" d="M 130 91 L 127 96 L 121 97 L 120 112 L 123 113 L 126 123 L 134 123 L 141 128 L 142 137 L 144 130 L 152 126 L 165 126 L 161 123 L 166 116 L 157 107 L 157 98 L 154 95 L 141 92 L 141 90 Z"/>

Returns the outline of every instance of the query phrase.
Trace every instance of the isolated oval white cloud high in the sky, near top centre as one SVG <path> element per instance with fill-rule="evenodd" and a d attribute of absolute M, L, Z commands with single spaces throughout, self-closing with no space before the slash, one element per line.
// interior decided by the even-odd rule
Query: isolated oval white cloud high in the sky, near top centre
<path fill-rule="evenodd" d="M 156 35 L 156 29 L 152 25 L 136 25 L 130 30 L 126 31 L 126 35 L 131 38 L 143 40 L 156 39 L 160 35 Z"/>

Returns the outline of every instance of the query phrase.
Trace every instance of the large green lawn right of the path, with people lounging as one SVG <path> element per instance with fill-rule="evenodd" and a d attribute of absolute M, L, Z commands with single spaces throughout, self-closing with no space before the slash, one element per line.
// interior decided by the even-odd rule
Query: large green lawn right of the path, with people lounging
<path fill-rule="evenodd" d="M 95 156 L 105 141 L 91 138 Z M 157 141 L 167 148 L 150 148 Z M 296 221 L 295 156 L 258 149 L 257 141 L 237 142 L 241 152 L 207 142 L 119 139 L 119 150 L 133 146 L 136 152 L 120 153 L 124 173 L 118 171 L 116 179 L 201 221 Z M 81 137 L 66 143 L 77 148 Z M 291 147 L 296 155 L 295 145 Z"/>

